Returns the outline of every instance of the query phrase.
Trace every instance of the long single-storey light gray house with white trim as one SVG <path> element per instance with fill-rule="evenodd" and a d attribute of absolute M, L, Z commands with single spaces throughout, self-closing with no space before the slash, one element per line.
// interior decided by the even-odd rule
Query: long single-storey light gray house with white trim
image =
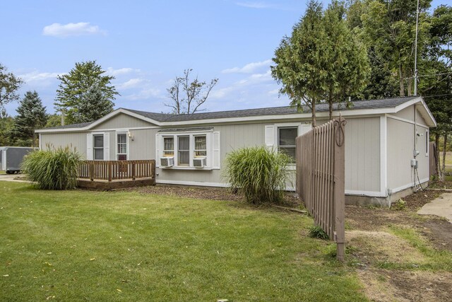
<path fill-rule="evenodd" d="M 317 106 L 319 124 L 328 105 Z M 363 100 L 335 105 L 345 126 L 347 202 L 378 202 L 408 194 L 429 181 L 429 127 L 436 122 L 422 97 Z M 39 129 L 40 148 L 72 145 L 99 161 L 155 159 L 156 182 L 225 187 L 223 161 L 245 146 L 267 146 L 295 158 L 295 137 L 311 129 L 311 112 L 261 108 L 166 115 L 119 108 L 100 120 Z M 417 151 L 416 156 L 414 150 Z M 295 175 L 295 165 L 290 173 Z M 287 184 L 287 189 L 295 187 Z M 396 194 L 396 196 L 394 196 Z"/>

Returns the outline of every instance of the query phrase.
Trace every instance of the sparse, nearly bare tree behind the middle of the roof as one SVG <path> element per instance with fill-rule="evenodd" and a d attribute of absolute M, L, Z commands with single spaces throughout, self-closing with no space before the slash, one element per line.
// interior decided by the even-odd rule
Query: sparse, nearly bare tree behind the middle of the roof
<path fill-rule="evenodd" d="M 167 88 L 170 103 L 164 103 L 165 106 L 172 109 L 176 115 L 190 115 L 197 111 L 206 103 L 212 88 L 218 83 L 218 79 L 199 81 L 198 76 L 194 80 L 190 79 L 190 73 L 193 69 L 185 69 L 184 76 L 177 76 L 171 87 Z"/>

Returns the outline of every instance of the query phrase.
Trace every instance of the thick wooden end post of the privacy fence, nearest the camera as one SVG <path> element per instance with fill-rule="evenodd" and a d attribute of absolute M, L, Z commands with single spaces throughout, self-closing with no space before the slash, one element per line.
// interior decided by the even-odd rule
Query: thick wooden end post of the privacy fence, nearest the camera
<path fill-rule="evenodd" d="M 334 209 L 335 242 L 338 245 L 336 257 L 345 258 L 345 120 L 335 120 L 334 135 Z"/>

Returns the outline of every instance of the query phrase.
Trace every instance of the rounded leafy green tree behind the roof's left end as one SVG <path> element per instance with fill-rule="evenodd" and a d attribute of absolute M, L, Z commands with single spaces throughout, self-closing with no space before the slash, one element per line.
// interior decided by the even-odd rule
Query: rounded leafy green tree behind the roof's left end
<path fill-rule="evenodd" d="M 114 76 L 106 76 L 95 61 L 76 63 L 69 74 L 58 76 L 61 81 L 54 103 L 56 109 L 64 112 L 69 123 L 92 122 L 113 110 L 113 100 L 119 93 L 111 85 Z M 93 97 L 93 89 L 97 97 Z M 91 93 L 88 93 L 91 91 Z M 89 101 L 96 104 L 88 104 Z M 86 108 L 95 111 L 87 114 Z"/>

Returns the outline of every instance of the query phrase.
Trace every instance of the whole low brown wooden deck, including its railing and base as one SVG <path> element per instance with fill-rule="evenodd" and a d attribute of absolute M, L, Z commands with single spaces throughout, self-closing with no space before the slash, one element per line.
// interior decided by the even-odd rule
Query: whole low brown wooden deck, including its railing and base
<path fill-rule="evenodd" d="M 155 185 L 155 161 L 83 161 L 78 167 L 78 187 L 111 190 Z"/>

